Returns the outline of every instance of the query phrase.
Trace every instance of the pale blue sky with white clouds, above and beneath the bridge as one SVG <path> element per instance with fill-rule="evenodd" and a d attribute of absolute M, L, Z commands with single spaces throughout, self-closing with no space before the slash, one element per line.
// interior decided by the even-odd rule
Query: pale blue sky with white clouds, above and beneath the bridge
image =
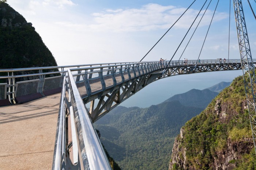
<path fill-rule="evenodd" d="M 172 57 L 173 60 L 178 60 L 209 2 L 210 0 L 203 7 L 199 19 L 195 20 L 204 3 L 195 1 L 143 61 L 158 61 L 159 58 L 169 60 Z M 255 1 L 250 0 L 250 2 L 256 11 Z M 7 0 L 7 3 L 23 15 L 27 22 L 33 24 L 35 31 L 52 52 L 57 64 L 63 66 L 140 61 L 189 7 L 192 0 Z M 255 56 L 256 22 L 247 1 L 243 0 L 242 3 L 251 52 L 252 56 Z M 216 4 L 217 0 L 211 1 L 182 58 L 197 59 L 199 57 Z M 194 20 L 195 24 L 188 32 L 184 43 L 180 45 Z M 219 1 L 200 59 L 228 58 L 228 49 L 230 49 L 230 59 L 240 59 L 233 5 L 231 5 L 230 48 L 228 41 L 229 1 Z M 179 45 L 180 48 L 177 50 Z M 176 50 L 177 53 L 174 55 Z M 207 73 L 205 76 L 200 73 L 195 76 L 167 78 L 170 80 L 157 81 L 151 88 L 154 92 L 155 86 L 166 89 L 168 87 L 161 85 L 168 85 L 169 81 L 176 79 L 183 80 L 181 84 L 186 84 L 185 81 L 205 79 L 204 83 L 195 82 L 195 85 L 190 82 L 183 91 L 181 90 L 181 92 L 187 92 L 192 87 L 203 89 L 223 80 L 231 81 L 241 74 L 240 70 L 240 72 Z M 175 84 L 177 82 L 178 80 L 174 81 Z M 145 93 L 152 89 L 149 86 Z M 170 88 L 170 90 L 173 89 Z M 180 90 L 176 90 L 176 94 L 177 92 L 180 93 Z M 156 90 L 155 95 L 161 96 L 160 94 L 162 91 Z M 174 95 L 175 92 L 168 91 L 163 94 Z M 143 97 L 143 94 L 140 95 Z M 163 100 L 163 97 L 161 99 Z M 134 97 L 132 100 L 136 101 Z"/>

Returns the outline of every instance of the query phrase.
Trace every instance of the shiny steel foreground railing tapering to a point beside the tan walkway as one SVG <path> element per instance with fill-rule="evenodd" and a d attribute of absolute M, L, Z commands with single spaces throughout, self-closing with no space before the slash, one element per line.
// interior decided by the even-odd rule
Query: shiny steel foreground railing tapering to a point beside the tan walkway
<path fill-rule="evenodd" d="M 111 170 L 69 69 L 63 84 L 52 169 Z"/>

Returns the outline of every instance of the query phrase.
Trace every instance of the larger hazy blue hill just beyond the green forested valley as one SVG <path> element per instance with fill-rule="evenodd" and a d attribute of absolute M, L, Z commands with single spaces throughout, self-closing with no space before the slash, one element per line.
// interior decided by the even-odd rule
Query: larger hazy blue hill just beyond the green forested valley
<path fill-rule="evenodd" d="M 186 93 L 176 94 L 173 97 L 168 98 L 166 101 L 177 100 L 177 101 L 180 101 L 182 105 L 204 109 L 211 102 L 211 100 L 217 95 L 218 95 L 217 92 L 212 92 L 209 89 L 204 89 L 204 90 L 192 89 Z"/>

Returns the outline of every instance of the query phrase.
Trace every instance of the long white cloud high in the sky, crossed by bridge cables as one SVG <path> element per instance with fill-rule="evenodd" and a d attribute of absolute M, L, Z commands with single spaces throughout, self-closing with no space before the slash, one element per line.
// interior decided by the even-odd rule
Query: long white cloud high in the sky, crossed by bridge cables
<path fill-rule="evenodd" d="M 149 31 L 169 28 L 185 11 L 185 8 L 147 4 L 141 8 L 106 9 L 93 13 L 94 23 L 90 28 L 94 31 Z M 199 10 L 189 9 L 176 23 L 175 28 L 188 28 Z M 202 17 L 203 12 L 199 15 Z M 213 11 L 207 10 L 200 26 L 210 23 Z M 213 22 L 227 18 L 227 13 L 215 13 Z"/>

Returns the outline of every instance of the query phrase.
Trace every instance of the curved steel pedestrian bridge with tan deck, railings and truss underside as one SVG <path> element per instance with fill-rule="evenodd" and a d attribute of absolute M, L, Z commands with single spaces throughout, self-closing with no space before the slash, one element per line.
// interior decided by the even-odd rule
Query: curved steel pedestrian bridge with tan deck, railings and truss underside
<path fill-rule="evenodd" d="M 240 69 L 230 59 L 0 70 L 1 169 L 110 169 L 93 122 L 162 78 Z"/>

